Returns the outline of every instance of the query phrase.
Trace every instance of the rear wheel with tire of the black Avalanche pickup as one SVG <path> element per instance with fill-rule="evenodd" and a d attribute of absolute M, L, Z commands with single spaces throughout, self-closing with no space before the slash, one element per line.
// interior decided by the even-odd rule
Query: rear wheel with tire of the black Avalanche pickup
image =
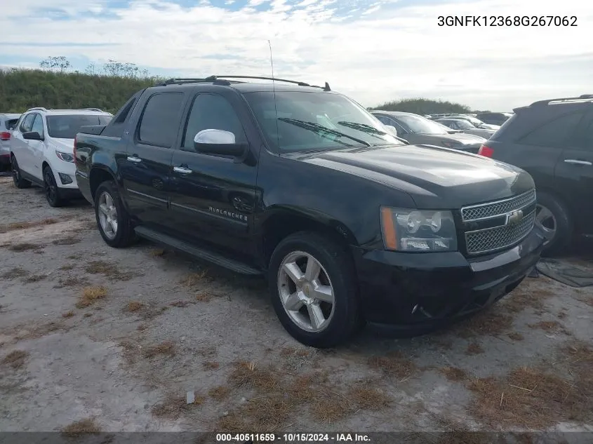
<path fill-rule="evenodd" d="M 124 248 L 135 240 L 130 217 L 121 202 L 117 185 L 106 181 L 95 192 L 95 219 L 101 237 L 113 248 Z"/>

